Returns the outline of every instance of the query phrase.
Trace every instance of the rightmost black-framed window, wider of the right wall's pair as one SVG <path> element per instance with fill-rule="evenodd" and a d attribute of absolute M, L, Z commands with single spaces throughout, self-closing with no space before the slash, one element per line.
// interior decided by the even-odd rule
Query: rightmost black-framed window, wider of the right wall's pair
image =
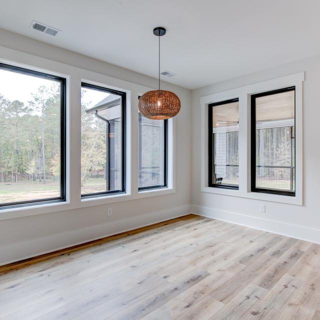
<path fill-rule="evenodd" d="M 251 191 L 295 195 L 295 88 L 251 95 Z"/>

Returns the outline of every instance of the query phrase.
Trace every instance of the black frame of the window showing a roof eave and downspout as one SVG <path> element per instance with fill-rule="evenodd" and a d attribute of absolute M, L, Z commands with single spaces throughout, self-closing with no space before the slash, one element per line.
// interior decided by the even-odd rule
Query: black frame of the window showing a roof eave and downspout
<path fill-rule="evenodd" d="M 100 85 L 81 82 L 81 88 L 94 89 L 121 96 L 121 190 L 110 190 L 92 193 L 81 193 L 81 199 L 125 193 L 126 191 L 126 92 L 110 89 Z"/>

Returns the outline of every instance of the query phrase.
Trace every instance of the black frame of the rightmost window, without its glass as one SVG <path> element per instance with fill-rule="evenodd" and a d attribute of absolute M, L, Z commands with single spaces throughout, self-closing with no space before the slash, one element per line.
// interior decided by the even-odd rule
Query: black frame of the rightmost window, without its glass
<path fill-rule="evenodd" d="M 286 196 L 295 196 L 295 181 L 296 181 L 296 174 L 294 173 L 294 191 L 291 190 L 280 190 L 280 189 L 269 189 L 269 188 L 257 188 L 255 184 L 255 178 L 256 178 L 256 116 L 255 116 L 255 99 L 260 96 L 265 95 L 272 95 L 276 93 L 282 93 L 286 91 L 294 91 L 294 131 L 295 131 L 295 85 L 288 86 L 285 88 L 265 91 L 265 92 L 259 92 L 255 94 L 251 94 L 251 129 L 250 129 L 250 175 L 251 175 L 251 192 L 258 192 L 258 193 L 268 193 L 268 194 L 276 194 L 276 195 L 286 195 Z M 294 134 L 294 143 L 295 143 L 295 134 Z M 295 170 L 295 146 L 294 146 L 294 172 Z"/>

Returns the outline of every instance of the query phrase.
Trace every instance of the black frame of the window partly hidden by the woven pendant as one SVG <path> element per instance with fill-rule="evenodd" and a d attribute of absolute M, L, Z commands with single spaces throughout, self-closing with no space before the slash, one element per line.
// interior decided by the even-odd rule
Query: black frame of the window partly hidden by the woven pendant
<path fill-rule="evenodd" d="M 138 96 L 138 99 L 140 96 Z M 142 118 L 142 114 L 138 112 L 138 174 L 141 170 L 141 134 L 140 134 L 140 128 L 139 128 L 139 123 L 140 119 Z M 158 185 L 152 185 L 152 186 L 138 186 L 138 191 L 147 191 L 147 190 L 154 190 L 154 189 L 163 189 L 167 187 L 167 162 L 168 162 L 168 157 L 167 157 L 167 145 L 168 145 L 168 119 L 163 119 L 163 184 L 158 184 Z M 139 178 L 138 178 L 139 179 Z"/>

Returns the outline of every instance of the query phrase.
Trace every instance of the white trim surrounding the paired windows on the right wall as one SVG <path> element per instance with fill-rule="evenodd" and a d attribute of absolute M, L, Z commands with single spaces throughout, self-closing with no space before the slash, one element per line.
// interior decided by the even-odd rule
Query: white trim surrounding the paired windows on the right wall
<path fill-rule="evenodd" d="M 235 89 L 200 97 L 201 116 L 201 192 L 224 194 L 265 201 L 302 205 L 302 83 L 304 72 L 258 82 Z M 289 86 L 295 86 L 295 196 L 250 191 L 250 96 Z M 208 186 L 208 104 L 232 98 L 239 99 L 239 189 Z"/>

